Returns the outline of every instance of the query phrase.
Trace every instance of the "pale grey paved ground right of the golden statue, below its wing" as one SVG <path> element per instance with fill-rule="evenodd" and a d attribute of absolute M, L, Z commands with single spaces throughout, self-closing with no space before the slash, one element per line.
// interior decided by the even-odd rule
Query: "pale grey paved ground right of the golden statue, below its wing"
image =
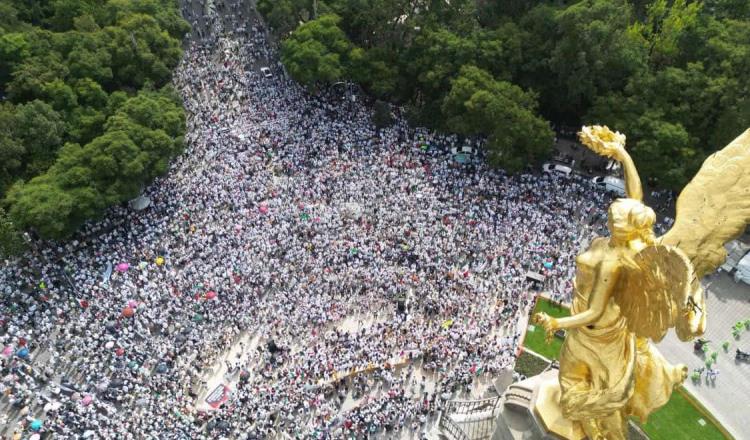
<path fill-rule="evenodd" d="M 739 340 L 732 337 L 732 326 L 737 321 L 750 319 L 750 286 L 735 283 L 726 273 L 706 278 L 704 287 L 708 292 L 708 328 L 704 336 L 710 342 L 708 351 L 718 352 L 719 376 L 712 384 L 705 373 L 697 383 L 688 378 L 685 387 L 698 397 L 703 405 L 727 428 L 736 439 L 750 439 L 747 416 L 750 408 L 750 363 L 738 363 L 735 350 L 750 351 L 750 331 L 743 330 Z M 727 352 L 721 347 L 729 341 Z M 693 351 L 692 342 L 681 342 L 670 332 L 658 344 L 662 354 L 674 363 L 685 363 L 692 373 L 705 366 L 705 357 Z M 693 423 L 686 420 L 685 423 Z M 694 421 L 698 423 L 698 421 Z"/>

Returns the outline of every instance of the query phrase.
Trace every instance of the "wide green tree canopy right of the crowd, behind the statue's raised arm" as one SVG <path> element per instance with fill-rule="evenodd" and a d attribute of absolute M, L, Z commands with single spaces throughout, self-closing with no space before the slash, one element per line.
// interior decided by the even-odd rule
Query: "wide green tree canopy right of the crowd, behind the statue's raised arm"
<path fill-rule="evenodd" d="M 486 137 L 491 161 L 508 169 L 549 153 L 538 148 L 549 137 L 541 120 L 601 123 L 628 135 L 646 178 L 677 190 L 750 126 L 750 0 L 260 0 L 259 8 L 286 39 L 283 61 L 301 82 L 355 81 L 415 110 L 420 124 Z M 320 28 L 335 39 L 311 33 Z M 499 102 L 503 121 L 477 110 Z M 508 120 L 540 130 L 538 140 L 524 143 Z M 493 159 L 499 151 L 502 161 Z"/>

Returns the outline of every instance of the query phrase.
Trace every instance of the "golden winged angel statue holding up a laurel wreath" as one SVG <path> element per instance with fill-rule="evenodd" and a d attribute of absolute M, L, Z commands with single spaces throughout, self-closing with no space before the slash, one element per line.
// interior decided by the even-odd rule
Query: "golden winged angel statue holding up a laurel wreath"
<path fill-rule="evenodd" d="M 677 200 L 672 228 L 656 237 L 625 136 L 583 127 L 581 142 L 622 164 L 627 198 L 609 207 L 610 237 L 576 258 L 571 316 L 539 313 L 550 337 L 567 330 L 560 353 L 559 410 L 591 440 L 627 438 L 628 417 L 643 422 L 687 375 L 650 341 L 670 328 L 688 341 L 703 334 L 701 278 L 726 258 L 724 244 L 750 221 L 750 130 L 710 156 Z"/>

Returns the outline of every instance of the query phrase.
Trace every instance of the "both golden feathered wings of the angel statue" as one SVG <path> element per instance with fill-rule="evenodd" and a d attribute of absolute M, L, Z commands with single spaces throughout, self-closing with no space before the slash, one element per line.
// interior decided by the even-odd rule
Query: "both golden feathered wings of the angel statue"
<path fill-rule="evenodd" d="M 675 224 L 626 261 L 614 299 L 630 331 L 658 342 L 674 327 L 688 341 L 703 334 L 700 284 L 726 259 L 724 244 L 750 222 L 750 130 L 711 155 L 677 199 Z"/>

